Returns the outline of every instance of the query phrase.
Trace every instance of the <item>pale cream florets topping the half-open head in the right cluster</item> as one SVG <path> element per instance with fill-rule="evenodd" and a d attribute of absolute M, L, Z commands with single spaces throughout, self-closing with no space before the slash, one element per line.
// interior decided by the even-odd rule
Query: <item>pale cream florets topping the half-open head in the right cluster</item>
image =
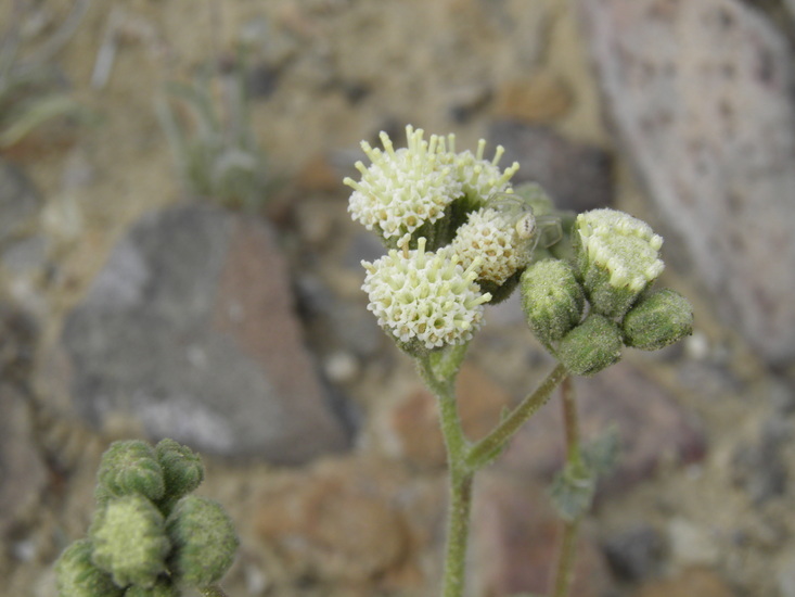
<path fill-rule="evenodd" d="M 663 237 L 638 218 L 615 209 L 593 209 L 577 216 L 585 254 L 592 266 L 606 270 L 610 284 L 640 292 L 665 265 L 659 258 Z"/>

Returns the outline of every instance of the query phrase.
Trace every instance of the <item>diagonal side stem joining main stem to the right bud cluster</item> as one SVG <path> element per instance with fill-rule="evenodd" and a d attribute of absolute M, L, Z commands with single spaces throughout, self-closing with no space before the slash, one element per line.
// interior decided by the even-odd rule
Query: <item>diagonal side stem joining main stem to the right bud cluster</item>
<path fill-rule="evenodd" d="M 557 388 L 566 376 L 568 376 L 568 371 L 563 365 L 559 364 L 552 369 L 535 392 L 525 397 L 491 433 L 472 446 L 466 457 L 467 467 L 476 470 L 493 460 L 527 419 L 547 404 L 552 391 Z"/>

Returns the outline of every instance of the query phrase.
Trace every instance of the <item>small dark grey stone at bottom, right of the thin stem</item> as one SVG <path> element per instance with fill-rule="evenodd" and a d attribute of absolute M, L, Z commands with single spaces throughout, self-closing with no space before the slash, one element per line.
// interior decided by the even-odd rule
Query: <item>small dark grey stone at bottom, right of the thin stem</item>
<path fill-rule="evenodd" d="M 613 573 L 618 579 L 630 582 L 656 575 L 665 548 L 664 537 L 645 523 L 614 533 L 602 544 Z"/>

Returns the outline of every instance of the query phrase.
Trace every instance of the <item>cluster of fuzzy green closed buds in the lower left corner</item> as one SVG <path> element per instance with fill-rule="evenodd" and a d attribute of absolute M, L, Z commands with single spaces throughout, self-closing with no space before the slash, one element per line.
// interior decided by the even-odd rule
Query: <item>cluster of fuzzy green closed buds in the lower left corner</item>
<path fill-rule="evenodd" d="M 189 495 L 200 457 L 163 440 L 115 442 L 102 456 L 89 537 L 55 564 L 61 597 L 177 597 L 206 587 L 232 564 L 238 537 L 223 508 Z"/>

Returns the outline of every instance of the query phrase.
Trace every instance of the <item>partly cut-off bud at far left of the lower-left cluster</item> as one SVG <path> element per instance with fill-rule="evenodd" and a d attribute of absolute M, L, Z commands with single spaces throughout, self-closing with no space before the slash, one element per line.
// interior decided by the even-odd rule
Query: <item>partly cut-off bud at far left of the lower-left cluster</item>
<path fill-rule="evenodd" d="M 111 575 L 91 562 L 89 539 L 74 542 L 55 563 L 57 594 L 61 597 L 121 597 L 124 589 Z"/>

